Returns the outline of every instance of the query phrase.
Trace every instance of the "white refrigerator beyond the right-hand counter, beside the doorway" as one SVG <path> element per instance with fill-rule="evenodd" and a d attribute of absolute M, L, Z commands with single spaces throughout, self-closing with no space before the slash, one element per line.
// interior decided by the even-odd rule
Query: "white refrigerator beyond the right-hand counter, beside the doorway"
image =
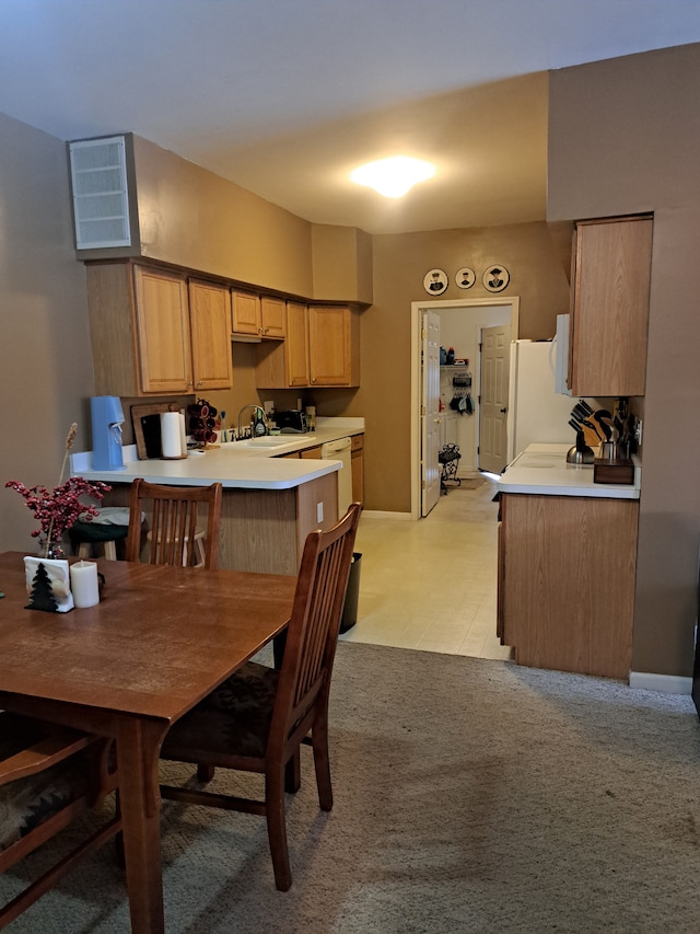
<path fill-rule="evenodd" d="M 555 392 L 555 348 L 553 341 L 511 343 L 506 417 L 509 463 L 528 445 L 573 445 L 576 440 L 569 419 L 578 399 Z"/>

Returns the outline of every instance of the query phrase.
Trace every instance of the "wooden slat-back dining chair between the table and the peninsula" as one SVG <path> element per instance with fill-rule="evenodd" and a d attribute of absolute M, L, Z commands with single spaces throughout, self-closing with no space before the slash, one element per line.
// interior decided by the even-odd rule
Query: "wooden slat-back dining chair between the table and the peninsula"
<path fill-rule="evenodd" d="M 215 568 L 219 557 L 222 486 L 164 486 L 139 477 L 131 484 L 126 560 L 147 564 Z M 200 529 L 200 507 L 207 527 Z M 150 520 L 142 555 L 142 516 Z"/>

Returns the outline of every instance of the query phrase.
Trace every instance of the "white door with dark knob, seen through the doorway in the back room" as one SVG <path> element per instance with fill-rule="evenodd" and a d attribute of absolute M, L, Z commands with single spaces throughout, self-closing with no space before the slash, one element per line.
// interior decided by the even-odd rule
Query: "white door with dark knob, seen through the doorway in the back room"
<path fill-rule="evenodd" d="M 508 464 L 510 367 L 510 325 L 485 327 L 481 331 L 479 470 L 490 473 L 501 473 Z"/>

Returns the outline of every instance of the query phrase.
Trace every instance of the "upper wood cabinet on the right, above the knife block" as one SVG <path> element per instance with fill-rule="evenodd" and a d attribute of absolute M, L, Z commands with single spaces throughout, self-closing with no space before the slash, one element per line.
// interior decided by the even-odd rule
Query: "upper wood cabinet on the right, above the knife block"
<path fill-rule="evenodd" d="M 649 216 L 579 221 L 572 253 L 573 395 L 643 395 L 651 279 Z"/>

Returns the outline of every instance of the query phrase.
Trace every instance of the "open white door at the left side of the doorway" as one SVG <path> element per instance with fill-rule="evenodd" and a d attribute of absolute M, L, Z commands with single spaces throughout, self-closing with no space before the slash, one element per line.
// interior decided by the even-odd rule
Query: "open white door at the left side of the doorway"
<path fill-rule="evenodd" d="M 440 499 L 440 315 L 425 310 L 421 322 L 421 516 Z"/>

